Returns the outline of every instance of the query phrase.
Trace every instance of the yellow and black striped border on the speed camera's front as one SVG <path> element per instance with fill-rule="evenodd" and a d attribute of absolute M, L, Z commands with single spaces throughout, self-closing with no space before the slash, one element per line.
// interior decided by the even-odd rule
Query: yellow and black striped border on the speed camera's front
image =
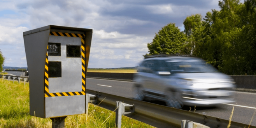
<path fill-rule="evenodd" d="M 79 37 L 81 38 L 81 60 L 82 60 L 82 91 L 81 92 L 63 92 L 63 93 L 49 93 L 49 82 L 48 82 L 48 54 L 46 53 L 46 65 L 45 65 L 45 97 L 53 96 L 74 96 L 74 95 L 85 95 L 85 35 L 76 33 L 63 33 L 63 32 L 50 32 L 49 35 L 62 36 L 62 37 Z M 47 46 L 48 49 L 48 46 Z"/>

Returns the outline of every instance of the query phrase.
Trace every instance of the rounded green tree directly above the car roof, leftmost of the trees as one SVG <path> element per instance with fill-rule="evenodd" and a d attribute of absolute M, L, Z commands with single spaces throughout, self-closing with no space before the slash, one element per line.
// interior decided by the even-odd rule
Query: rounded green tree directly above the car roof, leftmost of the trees
<path fill-rule="evenodd" d="M 147 44 L 149 54 L 189 54 L 187 36 L 175 26 L 169 23 L 156 33 L 153 42 Z"/>

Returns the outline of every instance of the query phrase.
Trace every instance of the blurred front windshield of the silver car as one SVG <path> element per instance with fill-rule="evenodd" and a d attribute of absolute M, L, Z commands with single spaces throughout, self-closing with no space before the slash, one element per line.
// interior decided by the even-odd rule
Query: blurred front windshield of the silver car
<path fill-rule="evenodd" d="M 203 60 L 167 60 L 171 72 L 216 72 L 216 68 Z"/>

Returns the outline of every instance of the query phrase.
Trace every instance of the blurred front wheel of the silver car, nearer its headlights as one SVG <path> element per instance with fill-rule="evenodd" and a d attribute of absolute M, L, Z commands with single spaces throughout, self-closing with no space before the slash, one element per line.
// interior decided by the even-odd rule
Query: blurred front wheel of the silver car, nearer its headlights
<path fill-rule="evenodd" d="M 181 109 L 183 107 L 183 103 L 179 98 L 179 93 L 168 91 L 165 93 L 165 103 L 168 107 L 174 107 L 177 109 Z"/>

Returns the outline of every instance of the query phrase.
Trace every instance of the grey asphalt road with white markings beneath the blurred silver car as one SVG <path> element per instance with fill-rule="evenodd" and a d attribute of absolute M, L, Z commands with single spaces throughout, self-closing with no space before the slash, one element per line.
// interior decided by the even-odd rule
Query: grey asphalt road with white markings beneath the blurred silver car
<path fill-rule="evenodd" d="M 86 89 L 101 91 L 127 98 L 133 97 L 132 86 L 133 82 L 86 78 Z M 256 93 L 234 93 L 236 100 L 235 103 L 221 104 L 217 107 L 196 107 L 195 112 L 200 114 L 205 112 L 206 115 L 229 120 L 234 107 L 232 121 L 250 124 L 253 116 L 251 125 L 256 126 Z M 158 102 L 150 99 L 147 99 L 146 101 L 165 105 L 164 102 Z M 185 107 L 184 110 L 189 110 L 189 107 Z M 191 108 L 191 111 L 194 111 L 194 107 Z"/>

